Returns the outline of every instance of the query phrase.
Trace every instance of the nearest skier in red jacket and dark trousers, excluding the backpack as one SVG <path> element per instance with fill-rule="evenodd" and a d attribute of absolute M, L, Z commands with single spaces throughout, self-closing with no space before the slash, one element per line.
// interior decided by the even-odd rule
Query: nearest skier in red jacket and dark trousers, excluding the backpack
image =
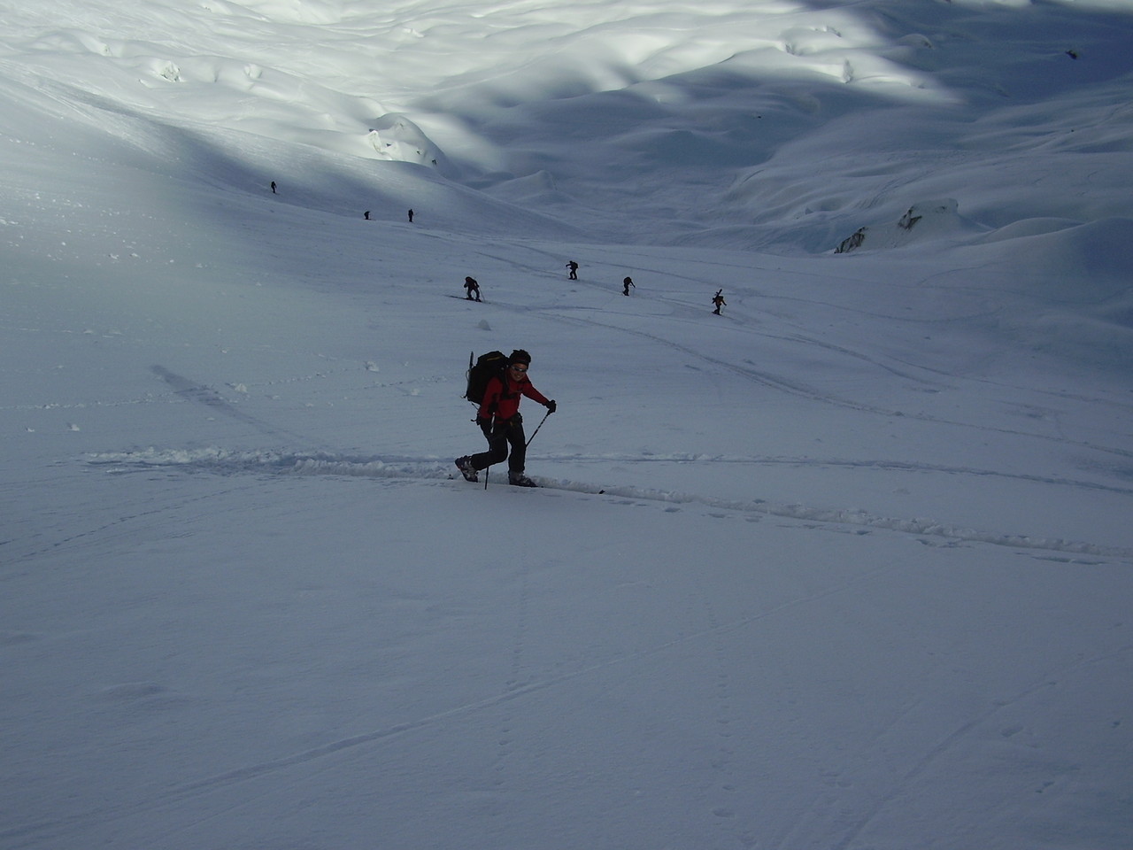
<path fill-rule="evenodd" d="M 476 481 L 480 469 L 508 460 L 508 483 L 520 487 L 534 487 L 535 482 L 523 475 L 527 461 L 527 439 L 523 435 L 523 416 L 519 413 L 520 398 L 527 396 L 555 411 L 555 402 L 535 389 L 527 380 L 527 367 L 531 355 L 517 349 L 508 358 L 503 373 L 488 381 L 484 401 L 476 413 L 476 424 L 488 441 L 488 450 L 479 454 L 457 458 L 457 468 L 466 481 Z M 508 454 L 508 447 L 511 454 Z"/>

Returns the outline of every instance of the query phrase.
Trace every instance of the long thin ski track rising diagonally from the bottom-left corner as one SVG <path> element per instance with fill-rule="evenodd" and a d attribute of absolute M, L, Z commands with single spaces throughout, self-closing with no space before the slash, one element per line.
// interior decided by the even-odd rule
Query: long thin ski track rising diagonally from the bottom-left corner
<path fill-rule="evenodd" d="M 534 694 L 539 694 L 552 688 L 556 688 L 561 685 L 566 685 L 576 679 L 588 677 L 595 673 L 600 673 L 622 664 L 632 663 L 636 661 L 641 661 L 644 658 L 651 658 L 657 655 L 662 655 L 670 649 L 682 646 L 690 641 L 702 640 L 705 638 L 712 638 L 714 646 L 718 645 L 719 638 L 729 632 L 738 631 L 748 626 L 757 623 L 761 620 L 766 620 L 773 617 L 777 617 L 784 612 L 791 611 L 793 609 L 800 607 L 802 605 L 808 605 L 811 602 L 817 602 L 824 600 L 828 596 L 834 596 L 842 593 L 855 585 L 864 581 L 871 581 L 878 576 L 897 569 L 896 567 L 885 566 L 875 567 L 872 569 L 866 570 L 852 578 L 849 578 L 837 585 L 827 587 L 817 593 L 809 594 L 807 596 L 800 596 L 787 602 L 783 602 L 775 607 L 768 609 L 766 611 L 760 611 L 755 614 L 749 614 L 747 617 L 741 617 L 735 620 L 725 623 L 709 622 L 707 628 L 700 629 L 699 631 L 689 632 L 687 635 L 681 635 L 674 637 L 670 640 L 665 640 L 656 646 L 649 647 L 648 649 L 640 649 L 637 652 L 631 652 L 625 655 L 616 656 L 613 658 L 606 658 L 587 666 L 580 668 L 572 672 L 561 673 L 554 675 L 550 679 L 543 681 L 536 681 L 528 685 L 522 685 L 510 690 L 496 694 L 495 696 L 487 697 L 485 699 L 479 699 L 472 703 L 465 703 L 462 705 L 453 706 L 452 708 L 446 708 L 441 712 L 435 712 L 433 714 L 426 715 L 424 717 L 418 717 L 417 720 L 406 721 L 403 723 L 394 723 L 392 725 L 385 726 L 384 729 L 378 729 L 372 732 L 365 732 L 361 734 L 350 736 L 348 738 L 340 738 L 335 741 L 330 741 L 321 747 L 313 747 L 310 749 L 303 750 L 300 753 L 295 753 L 289 756 L 282 756 L 280 758 L 258 762 L 253 765 L 247 765 L 245 767 L 238 767 L 224 773 L 215 774 L 213 776 L 206 776 L 204 779 L 197 780 L 195 782 L 184 783 L 179 787 L 174 787 L 168 791 L 160 792 L 153 797 L 139 800 L 129 805 L 113 806 L 107 809 L 95 809 L 82 814 L 75 814 L 60 818 L 57 821 L 46 821 L 37 824 L 28 824 L 26 826 L 17 827 L 15 830 L 7 830 L 0 832 L 0 839 L 31 839 L 33 836 L 58 836 L 67 834 L 69 832 L 90 830 L 91 826 L 97 824 L 108 824 L 116 821 L 121 821 L 123 818 L 131 817 L 134 815 L 153 813 L 159 808 L 168 807 L 173 804 L 182 802 L 185 800 L 195 799 L 203 797 L 208 793 L 216 791 L 222 791 L 228 788 L 233 788 L 242 785 L 247 782 L 258 780 L 264 776 L 278 773 L 280 771 L 286 771 L 291 767 L 298 767 L 309 763 L 314 763 L 324 758 L 329 758 L 337 754 L 346 753 L 348 750 L 357 749 L 370 743 L 378 743 L 391 738 L 400 737 L 415 732 L 421 729 L 427 729 L 435 726 L 440 723 L 445 723 L 451 720 L 468 716 L 470 714 L 476 714 L 479 712 L 488 711 L 497 706 L 506 705 L 514 700 L 519 700 L 531 696 Z M 326 765 L 316 773 L 322 773 L 331 770 L 333 765 Z M 250 798 L 232 801 L 223 810 L 231 811 L 238 809 L 254 799 L 261 799 L 264 796 L 271 793 L 271 791 L 264 791 L 261 793 L 253 794 Z M 211 815 L 208 818 L 215 817 L 216 813 Z M 717 816 L 722 816 L 718 815 Z M 204 823 L 204 819 L 196 821 L 195 823 Z M 165 835 L 174 834 L 180 832 L 186 827 L 177 827 L 167 833 Z"/>

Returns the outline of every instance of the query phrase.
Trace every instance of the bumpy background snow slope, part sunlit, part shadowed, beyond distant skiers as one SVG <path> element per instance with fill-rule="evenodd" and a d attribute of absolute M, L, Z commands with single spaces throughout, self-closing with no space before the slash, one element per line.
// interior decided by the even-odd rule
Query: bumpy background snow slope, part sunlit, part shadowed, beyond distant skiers
<path fill-rule="evenodd" d="M 823 252 L 937 197 L 998 228 L 1133 188 L 1121 3 L 11 6 L 0 69 L 96 124 L 403 161 L 602 237 Z"/>

